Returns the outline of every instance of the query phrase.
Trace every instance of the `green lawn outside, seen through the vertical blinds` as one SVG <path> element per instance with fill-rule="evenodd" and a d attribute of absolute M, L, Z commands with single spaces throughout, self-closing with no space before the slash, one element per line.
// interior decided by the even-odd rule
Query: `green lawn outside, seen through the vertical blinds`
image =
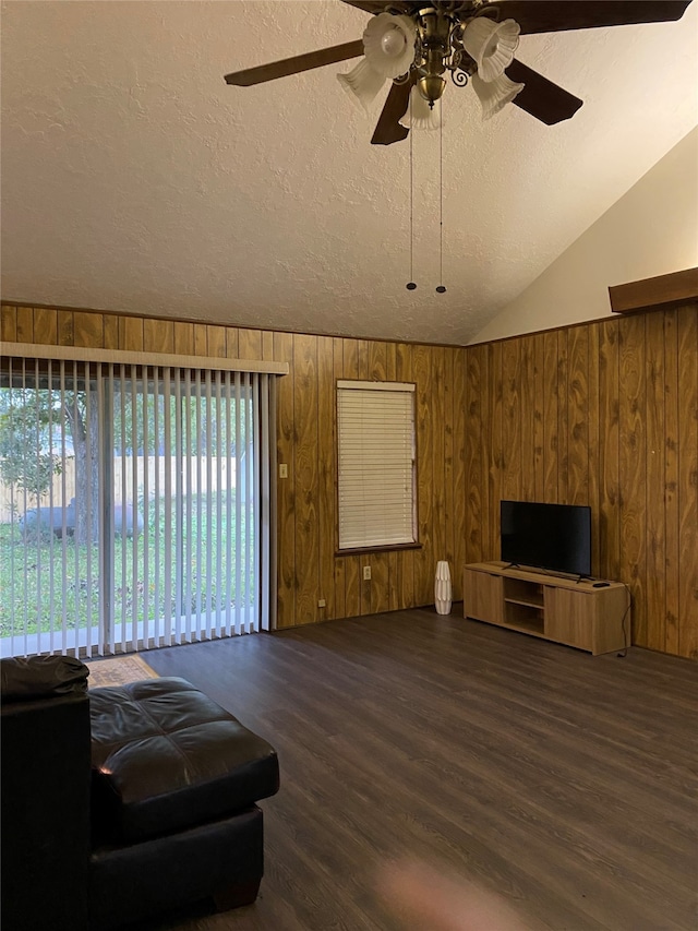
<path fill-rule="evenodd" d="M 234 492 L 233 492 L 234 493 Z M 236 589 L 236 549 L 245 547 L 243 526 L 238 530 L 234 508 L 228 524 L 225 493 L 221 492 L 221 522 L 217 521 L 217 501 L 213 502 L 210 524 L 205 502 L 201 521 L 193 502 L 192 521 L 176 533 L 176 513 L 171 515 L 169 613 L 215 612 L 232 607 Z M 144 515 L 145 529 L 135 538 L 113 542 L 113 614 L 116 623 L 131 624 L 164 618 L 167 613 L 165 514 L 160 504 L 156 515 L 151 502 Z M 156 520 L 157 517 L 157 520 Z M 220 530 L 220 533 L 219 533 Z M 231 562 L 228 564 L 228 537 Z M 180 546 L 178 548 L 178 540 Z M 144 553 L 147 549 L 147 565 Z M 156 565 L 157 549 L 157 565 Z M 197 549 L 201 551 L 201 560 Z M 135 554 L 135 565 L 134 565 Z M 210 572 L 208 556 L 210 554 Z M 181 557 L 181 599 L 177 598 L 177 566 Z M 220 558 L 220 565 L 219 560 Z M 97 544 L 63 541 L 49 533 L 28 532 L 19 526 L 0 525 L 0 637 L 36 634 L 96 625 L 99 618 L 99 550 Z M 220 582 L 218 582 L 220 580 Z M 250 574 L 241 576 L 240 599 L 249 602 Z M 51 597 L 52 593 L 52 597 Z M 37 612 L 38 605 L 38 612 Z"/>

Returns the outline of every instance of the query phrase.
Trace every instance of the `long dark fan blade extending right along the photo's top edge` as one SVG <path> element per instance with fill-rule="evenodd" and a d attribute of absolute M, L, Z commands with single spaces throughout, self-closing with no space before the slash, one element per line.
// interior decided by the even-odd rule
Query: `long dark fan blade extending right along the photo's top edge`
<path fill-rule="evenodd" d="M 522 34 L 681 20 L 689 3 L 690 0 L 495 0 L 501 19 L 516 20 Z"/>

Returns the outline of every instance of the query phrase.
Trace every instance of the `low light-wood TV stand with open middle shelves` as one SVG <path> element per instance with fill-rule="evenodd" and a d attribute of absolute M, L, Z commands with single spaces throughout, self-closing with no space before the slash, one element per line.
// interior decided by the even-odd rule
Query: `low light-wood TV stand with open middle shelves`
<path fill-rule="evenodd" d="M 621 582 L 594 588 L 505 562 L 473 562 L 464 571 L 464 616 L 552 640 L 597 656 L 630 645 L 629 594 Z"/>

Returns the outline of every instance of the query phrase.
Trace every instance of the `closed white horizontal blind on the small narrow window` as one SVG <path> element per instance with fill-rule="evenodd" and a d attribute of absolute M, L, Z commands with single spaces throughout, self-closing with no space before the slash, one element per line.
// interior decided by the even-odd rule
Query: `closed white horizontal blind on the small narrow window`
<path fill-rule="evenodd" d="M 339 549 L 416 541 L 414 385 L 337 383 Z"/>

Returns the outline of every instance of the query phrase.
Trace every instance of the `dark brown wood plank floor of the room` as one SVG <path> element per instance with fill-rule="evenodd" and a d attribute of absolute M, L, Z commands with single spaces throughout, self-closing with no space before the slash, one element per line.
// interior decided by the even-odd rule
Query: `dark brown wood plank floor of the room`
<path fill-rule="evenodd" d="M 496 891 L 531 929 L 698 928 L 698 665 L 594 658 L 460 607 L 145 655 L 281 768 L 256 904 L 149 928 L 396 931 L 374 882 L 404 856 Z"/>

